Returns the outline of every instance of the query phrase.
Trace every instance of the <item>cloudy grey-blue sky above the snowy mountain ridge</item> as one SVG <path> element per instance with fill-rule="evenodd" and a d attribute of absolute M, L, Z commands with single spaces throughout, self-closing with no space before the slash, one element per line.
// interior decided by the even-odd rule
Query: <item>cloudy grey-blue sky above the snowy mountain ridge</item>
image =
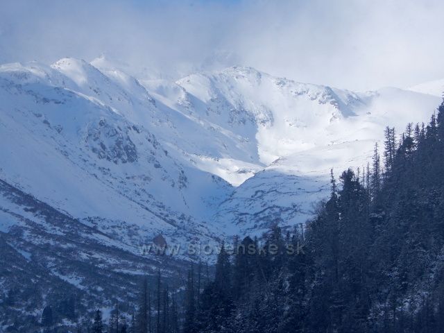
<path fill-rule="evenodd" d="M 348 89 L 408 87 L 444 78 L 444 1 L 0 1 L 0 62 L 102 53 L 156 75 L 248 65 Z"/>

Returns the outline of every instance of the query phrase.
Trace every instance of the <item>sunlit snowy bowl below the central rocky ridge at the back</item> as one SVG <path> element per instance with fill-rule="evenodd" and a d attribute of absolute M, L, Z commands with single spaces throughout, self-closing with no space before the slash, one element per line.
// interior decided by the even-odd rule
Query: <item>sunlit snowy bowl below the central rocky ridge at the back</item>
<path fill-rule="evenodd" d="M 191 103 L 203 103 L 196 108 L 200 117 L 254 143 L 251 156 L 267 165 L 329 142 L 325 129 L 365 103 L 352 92 L 275 78 L 250 67 L 195 74 L 178 84 L 191 94 Z"/>

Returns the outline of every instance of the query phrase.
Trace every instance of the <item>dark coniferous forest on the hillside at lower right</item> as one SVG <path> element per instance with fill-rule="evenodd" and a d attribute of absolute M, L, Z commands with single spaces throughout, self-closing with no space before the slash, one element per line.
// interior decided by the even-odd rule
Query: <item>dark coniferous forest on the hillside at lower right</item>
<path fill-rule="evenodd" d="M 191 266 L 180 296 L 160 271 L 144 278 L 129 318 L 116 304 L 78 332 L 444 332 L 443 259 L 444 101 L 427 125 L 387 127 L 368 165 L 332 170 L 306 225 L 222 246 L 214 276 Z"/>

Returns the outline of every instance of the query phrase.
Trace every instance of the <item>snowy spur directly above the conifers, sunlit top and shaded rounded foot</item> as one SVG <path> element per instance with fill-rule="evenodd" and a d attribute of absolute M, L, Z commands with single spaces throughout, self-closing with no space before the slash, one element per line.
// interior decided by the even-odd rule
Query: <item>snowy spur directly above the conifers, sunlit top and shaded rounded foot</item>
<path fill-rule="evenodd" d="M 395 88 L 363 95 L 366 104 L 355 109 L 355 116 L 330 123 L 319 134 L 317 142 L 324 143 L 311 140 L 314 147 L 302 151 L 296 145 L 294 153 L 256 173 L 220 205 L 215 220 L 232 234 L 257 235 L 275 222 L 282 226 L 305 223 L 314 214 L 314 203 L 330 192 L 331 168 L 336 178 L 348 167 L 362 172 L 375 142 L 383 146 L 385 126 L 401 132 L 407 119 L 427 121 L 439 103 L 436 97 Z"/>

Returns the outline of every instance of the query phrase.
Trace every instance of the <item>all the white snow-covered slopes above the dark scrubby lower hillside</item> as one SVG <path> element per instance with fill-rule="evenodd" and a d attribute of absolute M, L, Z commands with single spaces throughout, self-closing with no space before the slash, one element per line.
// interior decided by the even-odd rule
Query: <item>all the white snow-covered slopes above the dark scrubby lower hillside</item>
<path fill-rule="evenodd" d="M 268 173 L 325 177 L 330 167 L 364 165 L 384 126 L 425 121 L 438 102 L 395 88 L 296 83 L 250 67 L 171 82 L 139 81 L 103 57 L 92 64 L 0 67 L 1 177 L 71 216 L 150 225 L 152 234 L 183 221 L 217 233 L 219 223 L 206 221 L 250 184 L 280 187 Z"/>

